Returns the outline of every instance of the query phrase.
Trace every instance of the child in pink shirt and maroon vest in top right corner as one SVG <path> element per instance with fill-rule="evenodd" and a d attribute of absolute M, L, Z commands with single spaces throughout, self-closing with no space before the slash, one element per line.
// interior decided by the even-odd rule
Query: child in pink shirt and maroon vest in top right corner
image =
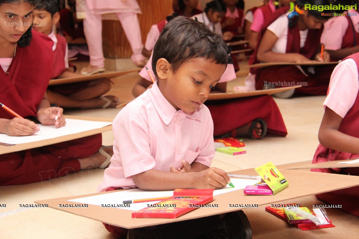
<path fill-rule="evenodd" d="M 337 0 L 336 5 L 354 5 L 352 0 Z M 324 23 L 321 42 L 332 61 L 339 61 L 359 52 L 359 13 L 354 8 L 337 10 L 339 16 L 334 16 Z"/>

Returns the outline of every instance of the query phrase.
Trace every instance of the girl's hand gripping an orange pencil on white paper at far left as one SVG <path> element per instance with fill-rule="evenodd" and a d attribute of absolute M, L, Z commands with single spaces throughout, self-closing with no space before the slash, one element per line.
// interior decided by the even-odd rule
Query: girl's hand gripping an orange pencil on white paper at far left
<path fill-rule="evenodd" d="M 13 118 L 5 125 L 5 133 L 10 136 L 32 135 L 39 131 L 39 126 L 28 119 Z"/>

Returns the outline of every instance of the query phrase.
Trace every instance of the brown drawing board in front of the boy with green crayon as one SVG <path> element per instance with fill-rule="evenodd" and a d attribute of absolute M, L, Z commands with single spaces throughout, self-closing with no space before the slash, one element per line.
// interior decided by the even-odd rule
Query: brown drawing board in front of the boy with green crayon
<path fill-rule="evenodd" d="M 243 175 L 257 175 L 253 169 L 239 170 L 231 173 Z M 37 200 L 38 204 L 48 204 L 49 207 L 65 212 L 70 212 L 75 215 L 83 216 L 86 218 L 102 221 L 122 228 L 140 228 L 144 226 L 153 226 L 164 223 L 173 223 L 176 221 L 183 221 L 188 219 L 201 218 L 225 212 L 237 211 L 239 207 L 229 207 L 229 204 L 258 204 L 267 205 L 275 202 L 288 203 L 293 199 L 308 195 L 314 195 L 322 192 L 329 192 L 337 189 L 348 188 L 359 185 L 359 177 L 348 175 L 337 175 L 329 173 L 317 173 L 281 169 L 281 173 L 289 182 L 289 187 L 275 195 L 244 195 L 243 190 L 237 190 L 214 196 L 214 201 L 210 204 L 218 204 L 218 207 L 204 207 L 191 211 L 177 219 L 164 219 L 164 218 L 132 218 L 133 211 L 124 210 L 120 208 L 101 207 L 98 205 L 90 205 L 88 207 L 59 207 L 59 204 L 78 204 L 75 202 L 67 201 L 71 199 L 78 199 L 81 197 L 88 197 L 99 195 L 102 192 L 93 193 L 90 195 L 80 195 L 71 197 L 62 197 L 57 199 Z M 320 183 L 326 182 L 326 183 Z M 119 202 L 121 203 L 121 202 Z M 340 204 L 340 201 L 338 202 Z M 249 209 L 250 210 L 250 209 Z M 66 220 L 64 218 L 64 220 Z"/>

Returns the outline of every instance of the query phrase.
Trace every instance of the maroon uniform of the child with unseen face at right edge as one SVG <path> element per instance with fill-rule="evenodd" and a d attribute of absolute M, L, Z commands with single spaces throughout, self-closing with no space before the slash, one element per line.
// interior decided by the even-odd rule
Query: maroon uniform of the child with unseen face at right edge
<path fill-rule="evenodd" d="M 354 59 L 356 65 L 359 67 L 359 53 L 353 54 L 350 57 Z M 345 58 L 345 59 L 347 59 Z M 359 73 L 359 69 L 358 69 Z M 359 138 L 359 131 L 356 130 L 359 127 L 359 95 L 356 96 L 353 106 L 349 109 L 348 113 L 344 116 L 339 132 Z M 358 158 L 359 154 L 352 154 L 348 152 L 340 152 L 338 150 L 328 149 L 321 144 L 314 154 L 312 163 L 322 163 L 336 160 L 346 160 L 350 158 Z M 313 172 L 323 173 L 340 173 L 346 175 L 359 176 L 358 167 L 350 168 L 315 168 L 311 169 Z M 336 190 L 332 192 L 326 192 L 316 195 L 318 199 L 328 202 L 329 204 L 341 204 L 341 210 L 349 212 L 355 216 L 359 216 L 359 186 Z"/>

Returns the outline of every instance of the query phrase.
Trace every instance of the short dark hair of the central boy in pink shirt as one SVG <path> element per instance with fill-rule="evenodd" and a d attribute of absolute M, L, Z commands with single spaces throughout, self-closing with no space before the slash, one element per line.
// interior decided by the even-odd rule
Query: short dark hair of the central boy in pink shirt
<path fill-rule="evenodd" d="M 165 25 L 153 49 L 152 70 L 157 77 L 158 59 L 165 58 L 176 72 L 183 62 L 201 57 L 216 64 L 227 64 L 227 47 L 222 35 L 203 23 L 178 16 Z"/>

